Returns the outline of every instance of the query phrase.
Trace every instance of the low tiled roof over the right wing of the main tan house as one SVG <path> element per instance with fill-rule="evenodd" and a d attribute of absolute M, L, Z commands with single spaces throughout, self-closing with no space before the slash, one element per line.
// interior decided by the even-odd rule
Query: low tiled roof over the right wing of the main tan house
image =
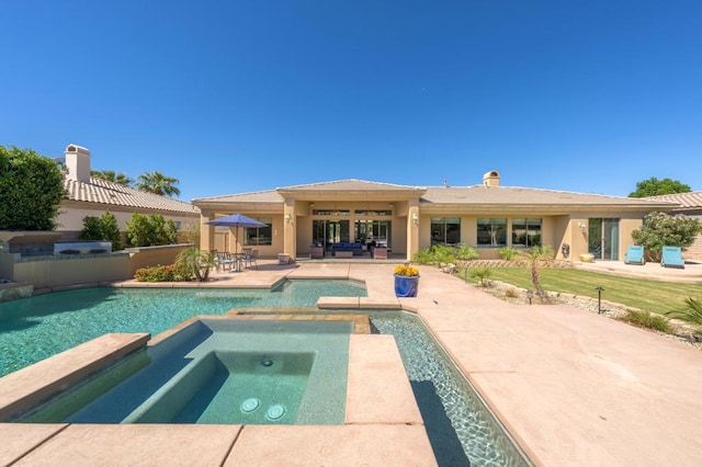
<path fill-rule="evenodd" d="M 609 205 L 650 206 L 669 203 L 644 198 L 609 196 L 554 190 L 524 189 L 519 186 L 429 186 L 421 197 L 422 204 L 476 204 L 476 205 Z"/>

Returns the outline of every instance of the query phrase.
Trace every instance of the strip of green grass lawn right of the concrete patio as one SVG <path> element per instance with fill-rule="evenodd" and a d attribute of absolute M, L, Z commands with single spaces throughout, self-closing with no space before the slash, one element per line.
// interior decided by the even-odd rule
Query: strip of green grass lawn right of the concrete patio
<path fill-rule="evenodd" d="M 489 278 L 533 289 L 526 267 L 490 267 Z M 460 273 L 463 277 L 463 272 Z M 620 277 L 576 269 L 542 269 L 541 285 L 548 292 L 561 292 L 597 298 L 598 286 L 604 288 L 602 299 L 660 312 L 684 306 L 687 297 L 702 298 L 700 284 L 676 284 L 645 278 Z"/>

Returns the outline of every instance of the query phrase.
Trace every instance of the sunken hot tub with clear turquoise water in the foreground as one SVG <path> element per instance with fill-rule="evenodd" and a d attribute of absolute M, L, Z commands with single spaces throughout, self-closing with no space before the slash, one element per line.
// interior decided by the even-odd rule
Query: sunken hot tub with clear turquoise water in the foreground
<path fill-rule="evenodd" d="M 20 421 L 343 424 L 350 321 L 203 319 Z"/>

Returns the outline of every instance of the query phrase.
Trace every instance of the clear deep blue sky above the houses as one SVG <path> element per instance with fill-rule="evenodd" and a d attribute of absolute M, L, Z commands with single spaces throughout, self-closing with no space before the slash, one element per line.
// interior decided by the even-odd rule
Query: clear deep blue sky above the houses
<path fill-rule="evenodd" d="M 180 180 L 702 190 L 702 2 L 0 4 L 0 145 Z"/>

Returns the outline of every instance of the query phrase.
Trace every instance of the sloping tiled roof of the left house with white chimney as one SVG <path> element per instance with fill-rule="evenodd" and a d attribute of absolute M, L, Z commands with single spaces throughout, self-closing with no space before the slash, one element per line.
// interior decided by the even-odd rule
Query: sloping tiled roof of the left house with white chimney
<path fill-rule="evenodd" d="M 71 201 L 179 214 L 200 214 L 200 208 L 190 203 L 141 192 L 101 179 L 91 178 L 90 183 L 65 179 L 64 187 Z"/>

